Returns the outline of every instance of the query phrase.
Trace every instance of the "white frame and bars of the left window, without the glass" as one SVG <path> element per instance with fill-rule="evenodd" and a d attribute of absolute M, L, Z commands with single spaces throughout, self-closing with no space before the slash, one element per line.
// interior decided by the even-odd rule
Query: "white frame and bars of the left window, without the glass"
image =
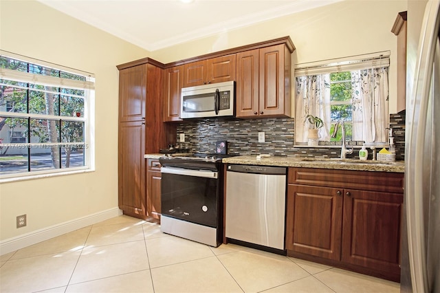
<path fill-rule="evenodd" d="M 18 181 L 18 180 L 29 180 L 34 179 L 36 177 L 52 177 L 56 175 L 67 175 L 72 173 L 84 173 L 89 171 L 95 170 L 95 146 L 94 146 L 94 135 L 91 133 L 94 133 L 94 98 L 95 98 L 95 76 L 94 74 L 90 74 L 89 72 L 83 72 L 78 69 L 72 69 L 69 67 L 65 67 L 62 65 L 56 65 L 53 63 L 48 63 L 45 61 L 40 61 L 34 58 L 21 56 L 18 54 L 14 54 L 12 52 L 6 52 L 3 50 L 0 50 L 0 55 L 5 58 L 12 58 L 17 61 L 21 61 L 23 63 L 32 63 L 34 65 L 43 66 L 45 68 L 55 69 L 60 72 L 66 72 L 68 74 L 74 74 L 76 76 L 83 76 L 85 80 L 74 80 L 69 78 L 56 78 L 54 76 L 43 76 L 43 75 L 37 75 L 36 81 L 29 83 L 29 80 L 19 80 L 20 76 L 25 76 L 25 74 L 30 74 L 29 72 L 17 72 L 17 76 L 14 76 L 15 70 L 13 69 L 3 69 L 0 68 L 0 79 L 3 80 L 12 80 L 17 81 L 19 83 L 27 83 L 28 87 L 30 84 L 33 85 L 49 85 L 50 87 L 58 87 L 58 88 L 64 88 L 64 89 L 80 89 L 84 90 L 84 96 L 80 97 L 84 99 L 84 108 L 83 113 L 81 113 L 80 117 L 74 117 L 74 116 L 63 116 L 63 113 L 58 113 L 58 115 L 47 115 L 47 114 L 41 114 L 41 113 L 23 113 L 23 112 L 9 112 L 9 111 L 3 111 L 3 109 L 0 109 L 0 117 L 3 118 L 25 118 L 31 120 L 31 119 L 39 119 L 39 120 L 55 120 L 58 126 L 61 126 L 63 122 L 82 122 L 83 125 L 83 142 L 63 142 L 62 137 L 58 137 L 57 142 L 31 142 L 30 141 L 30 135 L 28 135 L 28 142 L 25 143 L 10 143 L 10 146 L 19 146 L 23 149 L 28 149 L 28 169 L 26 171 L 20 171 L 18 173 L 5 173 L 0 174 L 0 183 L 1 182 L 11 182 L 11 181 Z M 25 76 L 25 78 L 29 78 Z M 40 78 L 40 79 L 39 79 Z M 59 84 L 56 84 L 59 83 Z M 41 91 L 41 90 L 37 90 Z M 76 96 L 75 94 L 65 94 L 63 92 L 60 93 L 52 93 L 52 94 L 58 94 L 61 96 Z M 78 98 L 79 96 L 76 96 Z M 30 100 L 30 96 L 26 97 L 27 100 Z M 29 109 L 26 110 L 26 112 L 29 112 Z M 30 124 L 28 122 L 28 127 L 30 127 Z M 10 131 L 13 131 L 13 129 L 10 129 Z M 61 131 L 59 131 L 61 133 Z M 78 146 L 83 145 L 83 154 L 84 154 L 84 161 L 83 166 L 69 166 L 68 168 L 63 167 L 62 159 L 63 159 L 63 146 Z M 8 144 L 3 144 L 3 146 L 8 146 Z M 37 170 L 32 171 L 30 169 L 30 162 L 32 161 L 32 147 L 34 148 L 48 148 L 50 149 L 52 146 L 57 146 L 60 150 L 60 167 L 59 168 L 53 168 L 53 169 L 45 169 L 45 170 Z"/>

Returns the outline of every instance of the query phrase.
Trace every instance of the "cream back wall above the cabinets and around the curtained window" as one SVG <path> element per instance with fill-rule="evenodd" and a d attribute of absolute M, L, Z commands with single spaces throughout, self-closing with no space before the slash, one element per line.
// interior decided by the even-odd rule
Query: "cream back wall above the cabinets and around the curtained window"
<path fill-rule="evenodd" d="M 162 63 L 200 54 L 290 36 L 296 63 L 391 51 L 390 112 L 397 109 L 397 37 L 391 32 L 397 13 L 406 10 L 404 0 L 348 0 L 316 8 L 259 25 L 223 32 L 151 52 Z M 293 72 L 293 70 L 292 70 Z M 294 91 L 292 91 L 294 92 Z M 293 112 L 294 113 L 294 112 Z"/>

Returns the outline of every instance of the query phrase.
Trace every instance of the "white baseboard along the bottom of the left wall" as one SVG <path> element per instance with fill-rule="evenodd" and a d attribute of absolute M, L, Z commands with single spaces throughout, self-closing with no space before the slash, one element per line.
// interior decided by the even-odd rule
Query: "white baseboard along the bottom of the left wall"
<path fill-rule="evenodd" d="M 120 215 L 122 215 L 122 210 L 119 208 L 111 208 L 109 210 L 103 210 L 99 213 L 73 219 L 72 221 L 65 221 L 61 224 L 56 224 L 54 226 L 29 232 L 17 237 L 12 237 L 0 242 L 0 255 L 99 223 L 100 221 L 104 221 L 106 219 L 118 217 Z"/>

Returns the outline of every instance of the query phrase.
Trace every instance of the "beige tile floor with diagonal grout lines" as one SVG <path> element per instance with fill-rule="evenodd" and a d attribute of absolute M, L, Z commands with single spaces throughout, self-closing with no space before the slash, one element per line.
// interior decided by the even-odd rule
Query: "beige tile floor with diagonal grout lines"
<path fill-rule="evenodd" d="M 0 292 L 399 292 L 399 283 L 218 248 L 120 216 L 1 255 Z"/>

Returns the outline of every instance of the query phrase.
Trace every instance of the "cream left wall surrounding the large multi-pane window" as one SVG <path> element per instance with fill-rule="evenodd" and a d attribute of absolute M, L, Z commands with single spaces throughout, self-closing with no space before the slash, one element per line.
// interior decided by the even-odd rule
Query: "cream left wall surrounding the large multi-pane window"
<path fill-rule="evenodd" d="M 1 50 L 96 76 L 96 171 L 0 184 L 0 241 L 105 210 L 117 210 L 115 65 L 144 58 L 148 52 L 37 1 L 1 0 L 0 38 Z M 28 215 L 28 226 L 17 229 L 16 217 L 22 214 Z"/>

